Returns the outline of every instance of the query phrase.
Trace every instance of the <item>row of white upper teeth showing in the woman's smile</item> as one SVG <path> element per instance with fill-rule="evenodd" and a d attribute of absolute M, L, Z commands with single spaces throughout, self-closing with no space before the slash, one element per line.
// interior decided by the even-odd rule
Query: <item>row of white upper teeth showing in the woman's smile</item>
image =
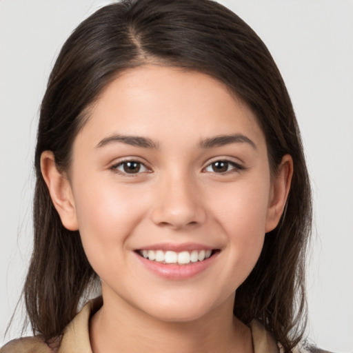
<path fill-rule="evenodd" d="M 140 254 L 151 261 L 157 261 L 162 263 L 179 263 L 179 265 L 185 265 L 190 262 L 203 261 L 208 259 L 212 250 L 193 250 L 192 252 L 182 251 L 166 251 L 163 250 L 141 250 Z"/>

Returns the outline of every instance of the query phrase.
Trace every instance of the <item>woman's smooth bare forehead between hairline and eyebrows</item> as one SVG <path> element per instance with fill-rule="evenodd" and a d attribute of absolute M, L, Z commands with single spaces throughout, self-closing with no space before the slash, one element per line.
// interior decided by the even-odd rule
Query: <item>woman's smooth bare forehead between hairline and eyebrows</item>
<path fill-rule="evenodd" d="M 101 92 L 80 135 L 134 134 L 186 143 L 216 134 L 250 134 L 264 143 L 256 117 L 220 81 L 196 71 L 159 65 L 125 70 Z"/>

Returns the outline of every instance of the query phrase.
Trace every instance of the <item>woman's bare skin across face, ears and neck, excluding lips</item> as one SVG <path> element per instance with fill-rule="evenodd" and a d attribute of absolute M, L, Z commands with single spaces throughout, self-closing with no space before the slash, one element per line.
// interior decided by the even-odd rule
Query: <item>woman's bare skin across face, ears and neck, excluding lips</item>
<path fill-rule="evenodd" d="M 118 134 L 150 139 L 154 148 L 117 141 Z M 201 143 L 230 134 L 238 139 Z M 123 161 L 140 170 L 124 172 Z M 225 171 L 216 161 L 228 161 Z M 232 314 L 234 296 L 279 222 L 292 159 L 283 157 L 272 176 L 263 132 L 240 99 L 199 72 L 127 70 L 92 106 L 70 172 L 57 171 L 50 151 L 41 167 L 63 225 L 79 229 L 101 278 L 94 353 L 252 352 L 250 329 Z M 136 252 L 190 242 L 216 256 L 188 279 L 159 276 Z"/>

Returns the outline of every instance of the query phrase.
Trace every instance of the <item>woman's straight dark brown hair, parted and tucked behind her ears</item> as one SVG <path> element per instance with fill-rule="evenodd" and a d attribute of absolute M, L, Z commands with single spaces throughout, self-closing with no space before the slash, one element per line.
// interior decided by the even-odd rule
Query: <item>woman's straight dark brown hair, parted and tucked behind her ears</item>
<path fill-rule="evenodd" d="M 41 104 L 35 169 L 34 250 L 24 296 L 34 334 L 60 334 L 97 275 L 79 232 L 66 230 L 41 175 L 54 153 L 70 167 L 72 143 L 99 94 L 128 68 L 148 62 L 197 70 L 223 82 L 253 110 L 263 129 L 272 172 L 284 154 L 294 161 L 292 187 L 259 261 L 236 292 L 234 314 L 258 319 L 285 352 L 305 327 L 305 253 L 311 192 L 290 97 L 268 49 L 236 14 L 210 0 L 124 0 L 101 8 L 65 42 Z"/>

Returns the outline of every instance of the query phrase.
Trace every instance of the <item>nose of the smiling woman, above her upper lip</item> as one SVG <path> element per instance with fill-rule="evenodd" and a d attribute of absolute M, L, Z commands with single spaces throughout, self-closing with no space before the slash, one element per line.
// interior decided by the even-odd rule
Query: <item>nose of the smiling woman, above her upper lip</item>
<path fill-rule="evenodd" d="M 180 230 L 205 222 L 202 195 L 191 178 L 165 178 L 159 183 L 155 200 L 151 218 L 159 226 Z"/>

